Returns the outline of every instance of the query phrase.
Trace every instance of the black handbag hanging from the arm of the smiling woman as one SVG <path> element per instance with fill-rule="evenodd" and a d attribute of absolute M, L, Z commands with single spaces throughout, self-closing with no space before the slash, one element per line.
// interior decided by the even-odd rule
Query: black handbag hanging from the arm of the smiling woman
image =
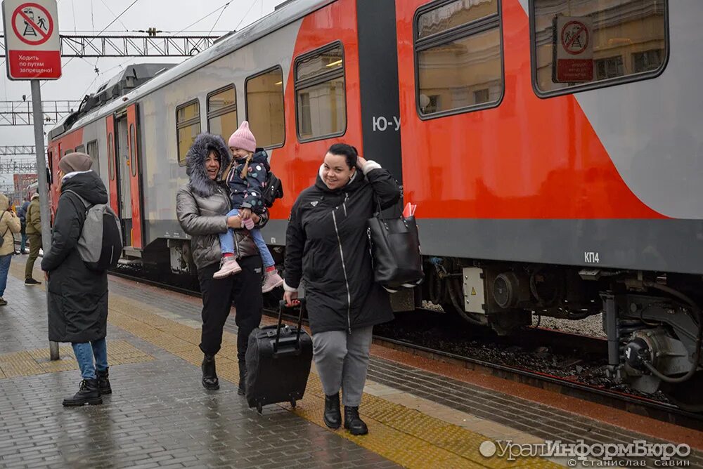
<path fill-rule="evenodd" d="M 387 218 L 379 203 L 367 224 L 375 282 L 392 293 L 420 284 L 425 274 L 415 217 Z"/>

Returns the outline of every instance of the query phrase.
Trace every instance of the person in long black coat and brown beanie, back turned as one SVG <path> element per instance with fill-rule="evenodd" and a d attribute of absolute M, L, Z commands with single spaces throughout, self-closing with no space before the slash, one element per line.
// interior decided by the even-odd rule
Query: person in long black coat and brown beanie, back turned
<path fill-rule="evenodd" d="M 77 244 L 88 204 L 107 204 L 108 191 L 91 171 L 87 154 L 71 153 L 58 162 L 61 195 L 51 234 L 51 249 L 44 253 L 49 290 L 49 341 L 70 342 L 83 381 L 78 392 L 63 400 L 65 406 L 102 404 L 110 394 L 108 381 L 108 272 L 86 267 Z M 80 197 L 79 197 L 80 196 Z M 93 358 L 95 362 L 93 363 Z"/>

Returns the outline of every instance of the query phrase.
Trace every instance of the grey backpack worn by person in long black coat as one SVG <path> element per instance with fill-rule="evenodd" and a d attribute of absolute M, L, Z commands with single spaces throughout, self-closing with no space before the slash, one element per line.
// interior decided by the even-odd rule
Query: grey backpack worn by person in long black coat
<path fill-rule="evenodd" d="M 78 254 L 92 270 L 108 270 L 115 267 L 122 256 L 122 230 L 120 220 L 106 204 L 89 204 L 86 199 L 72 190 L 81 199 L 86 209 L 86 220 L 78 238 Z"/>

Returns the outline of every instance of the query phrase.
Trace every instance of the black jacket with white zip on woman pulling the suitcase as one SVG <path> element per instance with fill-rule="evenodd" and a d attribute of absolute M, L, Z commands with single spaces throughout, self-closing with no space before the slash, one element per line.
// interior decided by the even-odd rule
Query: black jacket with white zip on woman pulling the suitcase
<path fill-rule="evenodd" d="M 304 282 L 312 333 L 358 329 L 393 319 L 388 293 L 373 282 L 366 220 L 376 197 L 393 206 L 400 190 L 373 161 L 351 183 L 330 190 L 318 176 L 298 196 L 285 238 L 285 289 Z"/>

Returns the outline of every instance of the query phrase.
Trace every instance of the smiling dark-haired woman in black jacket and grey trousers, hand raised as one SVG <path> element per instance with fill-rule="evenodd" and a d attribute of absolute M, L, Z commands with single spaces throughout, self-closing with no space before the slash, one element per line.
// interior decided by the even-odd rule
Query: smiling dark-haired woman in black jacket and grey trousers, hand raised
<path fill-rule="evenodd" d="M 330 147 L 314 185 L 290 212 L 285 239 L 285 301 L 304 282 L 315 364 L 325 391 L 324 421 L 368 432 L 359 404 L 373 326 L 393 319 L 388 293 L 373 282 L 366 220 L 400 198 L 391 174 L 345 144 Z"/>

